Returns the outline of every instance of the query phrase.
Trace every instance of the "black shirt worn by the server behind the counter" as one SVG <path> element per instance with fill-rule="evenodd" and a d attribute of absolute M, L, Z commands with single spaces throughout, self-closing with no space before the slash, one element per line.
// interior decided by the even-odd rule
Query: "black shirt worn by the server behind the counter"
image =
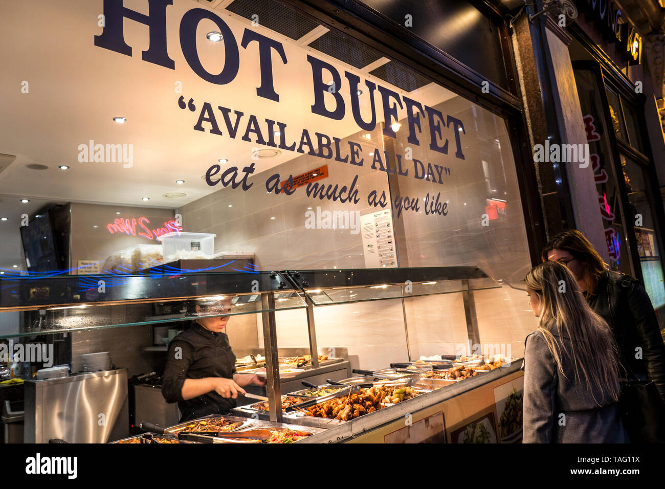
<path fill-rule="evenodd" d="M 208 331 L 192 321 L 190 327 L 169 344 L 162 395 L 167 403 L 178 403 L 182 412 L 180 422 L 208 414 L 226 414 L 235 407 L 235 399 L 221 397 L 211 391 L 185 401 L 182 399 L 182 386 L 185 379 L 233 379 L 234 373 L 235 354 L 229 345 L 229 337 L 225 333 Z"/>

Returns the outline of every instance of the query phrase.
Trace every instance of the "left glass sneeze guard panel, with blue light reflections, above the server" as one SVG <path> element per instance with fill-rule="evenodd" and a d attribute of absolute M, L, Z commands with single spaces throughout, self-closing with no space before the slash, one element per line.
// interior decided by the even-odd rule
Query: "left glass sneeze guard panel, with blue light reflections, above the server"
<path fill-rule="evenodd" d="M 306 307 L 288 284 L 277 272 L 13 275 L 0 279 L 0 337 Z"/>

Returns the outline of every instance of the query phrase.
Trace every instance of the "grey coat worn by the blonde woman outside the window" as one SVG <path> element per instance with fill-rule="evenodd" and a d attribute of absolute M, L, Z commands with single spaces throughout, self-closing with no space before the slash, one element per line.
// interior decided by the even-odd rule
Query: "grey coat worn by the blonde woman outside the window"
<path fill-rule="evenodd" d="M 552 334 L 559 337 L 554 330 Z M 563 341 L 568 347 L 567 336 Z M 618 407 L 594 389 L 600 406 L 585 382 L 575 382 L 571 361 L 564 357 L 559 375 L 543 333 L 536 330 L 525 341 L 523 438 L 524 443 L 628 443 Z"/>

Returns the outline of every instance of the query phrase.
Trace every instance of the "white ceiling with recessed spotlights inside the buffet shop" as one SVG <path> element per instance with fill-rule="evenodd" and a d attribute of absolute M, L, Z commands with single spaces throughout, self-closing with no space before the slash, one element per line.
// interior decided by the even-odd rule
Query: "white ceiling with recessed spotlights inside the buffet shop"
<path fill-rule="evenodd" d="M 226 1 L 221 6 L 230 3 Z M 18 198 L 27 197 L 42 202 L 97 202 L 128 206 L 178 208 L 188 202 L 218 190 L 205 184 L 201 176 L 218 158 L 227 158 L 229 165 L 240 168 L 251 162 L 251 152 L 257 146 L 240 140 L 244 122 L 255 114 L 261 128 L 265 118 L 287 123 L 289 142 L 299 138 L 303 128 L 311 135 L 323 132 L 344 138 L 360 133 L 352 115 L 348 85 L 341 88 L 346 101 L 346 116 L 336 121 L 311 113 L 313 90 L 311 67 L 306 56 L 311 53 L 336 66 L 342 81 L 344 69 L 386 86 L 386 82 L 370 77 L 327 57 L 323 53 L 299 45 L 264 27 L 251 27 L 246 19 L 228 11 L 217 11 L 231 27 L 238 45 L 245 28 L 256 29 L 284 45 L 289 61 L 283 65 L 273 55 L 275 90 L 280 102 L 256 95 L 260 84 L 257 43 L 247 49 L 239 47 L 240 69 L 236 79 L 227 85 L 215 85 L 199 79 L 190 69 L 180 49 L 178 36 L 182 15 L 193 7 L 206 7 L 205 2 L 174 0 L 167 9 L 168 54 L 175 61 L 171 70 L 142 61 L 141 52 L 148 49 L 148 27 L 134 21 L 124 21 L 125 41 L 132 47 L 132 57 L 94 46 L 94 36 L 102 32 L 98 15 L 102 0 L 31 0 L 0 2 L 0 154 L 16 158 L 3 167 L 0 160 L 0 211 L 21 213 Z M 146 0 L 124 0 L 124 6 L 147 13 Z M 198 49 L 201 63 L 210 73 L 223 67 L 223 43 L 205 39 L 209 31 L 217 30 L 211 21 L 201 21 L 198 28 Z M 319 29 L 321 33 L 323 29 Z M 307 37 L 307 36 L 306 36 Z M 311 36 L 309 36 L 311 38 Z M 308 39 L 307 42 L 310 42 Z M 386 60 L 387 61 L 387 60 Z M 374 69 L 376 63 L 370 69 Z M 21 92 L 27 81 L 29 92 Z M 176 82 L 182 82 L 182 95 L 194 98 L 199 109 L 210 102 L 223 136 L 193 129 L 197 112 L 178 107 Z M 391 87 L 396 92 L 404 90 Z M 381 101 L 376 96 L 377 118 L 382 120 Z M 454 96 L 434 84 L 410 92 L 409 96 L 430 106 Z M 332 102 L 332 96 L 329 96 Z M 361 110 L 368 114 L 369 100 L 361 97 Z M 240 110 L 239 134 L 229 138 L 218 105 Z M 400 114 L 404 117 L 406 114 Z M 126 124 L 112 121 L 124 116 Z M 209 124 L 204 124 L 205 128 Z M 364 131 L 362 131 L 364 134 Z M 374 131 L 378 136 L 378 130 Z M 122 163 L 80 163 L 78 146 L 88 144 L 132 144 L 134 163 L 123 168 Z M 298 156 L 282 152 L 275 158 L 261 158 L 255 174 Z M 27 164 L 43 164 L 47 170 L 30 170 Z M 59 170 L 66 164 L 69 170 Z M 3 170 L 4 168 L 4 170 Z M 183 185 L 176 180 L 186 180 Z M 167 192 L 184 192 L 180 199 L 164 198 Z M 149 202 L 142 202 L 144 196 Z M 9 215 L 8 215 L 9 217 Z M 5 230 L 2 227 L 7 226 Z M 0 232 L 17 232 L 18 223 L 12 218 L 0 222 Z M 6 236 L 6 235 L 5 235 Z M 3 249 L 0 249 L 2 253 Z M 20 257 L 20 256 L 19 256 Z M 15 255 L 0 257 L 0 267 Z"/>

